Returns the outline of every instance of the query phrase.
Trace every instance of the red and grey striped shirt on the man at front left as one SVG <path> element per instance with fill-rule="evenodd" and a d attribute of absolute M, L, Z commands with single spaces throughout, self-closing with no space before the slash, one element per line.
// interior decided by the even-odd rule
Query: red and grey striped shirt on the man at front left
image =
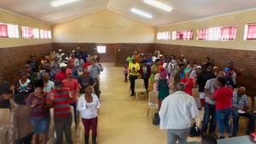
<path fill-rule="evenodd" d="M 54 107 L 54 115 L 56 117 L 67 117 L 71 114 L 69 103 L 71 99 L 68 95 L 68 89 L 61 89 L 61 92 L 56 91 L 56 89 L 51 90 L 48 95 L 46 102 L 50 102 L 49 95 L 53 94 L 55 99 L 52 101 L 52 106 Z"/>

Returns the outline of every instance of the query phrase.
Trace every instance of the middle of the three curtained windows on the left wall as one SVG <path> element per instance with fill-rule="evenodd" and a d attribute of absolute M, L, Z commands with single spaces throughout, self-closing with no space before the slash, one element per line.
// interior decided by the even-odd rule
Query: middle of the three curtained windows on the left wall
<path fill-rule="evenodd" d="M 21 26 L 22 38 L 39 38 L 39 29 Z"/>

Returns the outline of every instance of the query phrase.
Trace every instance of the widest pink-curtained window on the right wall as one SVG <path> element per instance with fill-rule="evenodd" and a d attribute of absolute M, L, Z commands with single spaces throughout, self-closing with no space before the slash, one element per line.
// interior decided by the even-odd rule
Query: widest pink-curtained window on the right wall
<path fill-rule="evenodd" d="M 230 41 L 236 40 L 237 26 L 221 26 L 197 29 L 197 40 Z"/>

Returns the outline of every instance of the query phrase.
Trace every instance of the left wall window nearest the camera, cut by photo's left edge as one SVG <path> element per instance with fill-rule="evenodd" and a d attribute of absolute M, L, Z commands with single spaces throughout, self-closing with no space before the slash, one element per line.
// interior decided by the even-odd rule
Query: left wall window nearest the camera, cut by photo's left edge
<path fill-rule="evenodd" d="M 18 25 L 0 23 L 0 37 L 19 38 Z"/>

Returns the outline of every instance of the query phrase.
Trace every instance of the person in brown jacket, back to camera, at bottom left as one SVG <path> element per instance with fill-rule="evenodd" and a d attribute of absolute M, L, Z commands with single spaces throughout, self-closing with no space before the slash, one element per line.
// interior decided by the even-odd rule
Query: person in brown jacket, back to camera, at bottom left
<path fill-rule="evenodd" d="M 14 96 L 15 109 L 10 113 L 9 121 L 9 143 L 25 144 L 31 143 L 33 135 L 33 126 L 31 122 L 31 108 L 23 105 L 25 95 L 18 94 Z"/>

